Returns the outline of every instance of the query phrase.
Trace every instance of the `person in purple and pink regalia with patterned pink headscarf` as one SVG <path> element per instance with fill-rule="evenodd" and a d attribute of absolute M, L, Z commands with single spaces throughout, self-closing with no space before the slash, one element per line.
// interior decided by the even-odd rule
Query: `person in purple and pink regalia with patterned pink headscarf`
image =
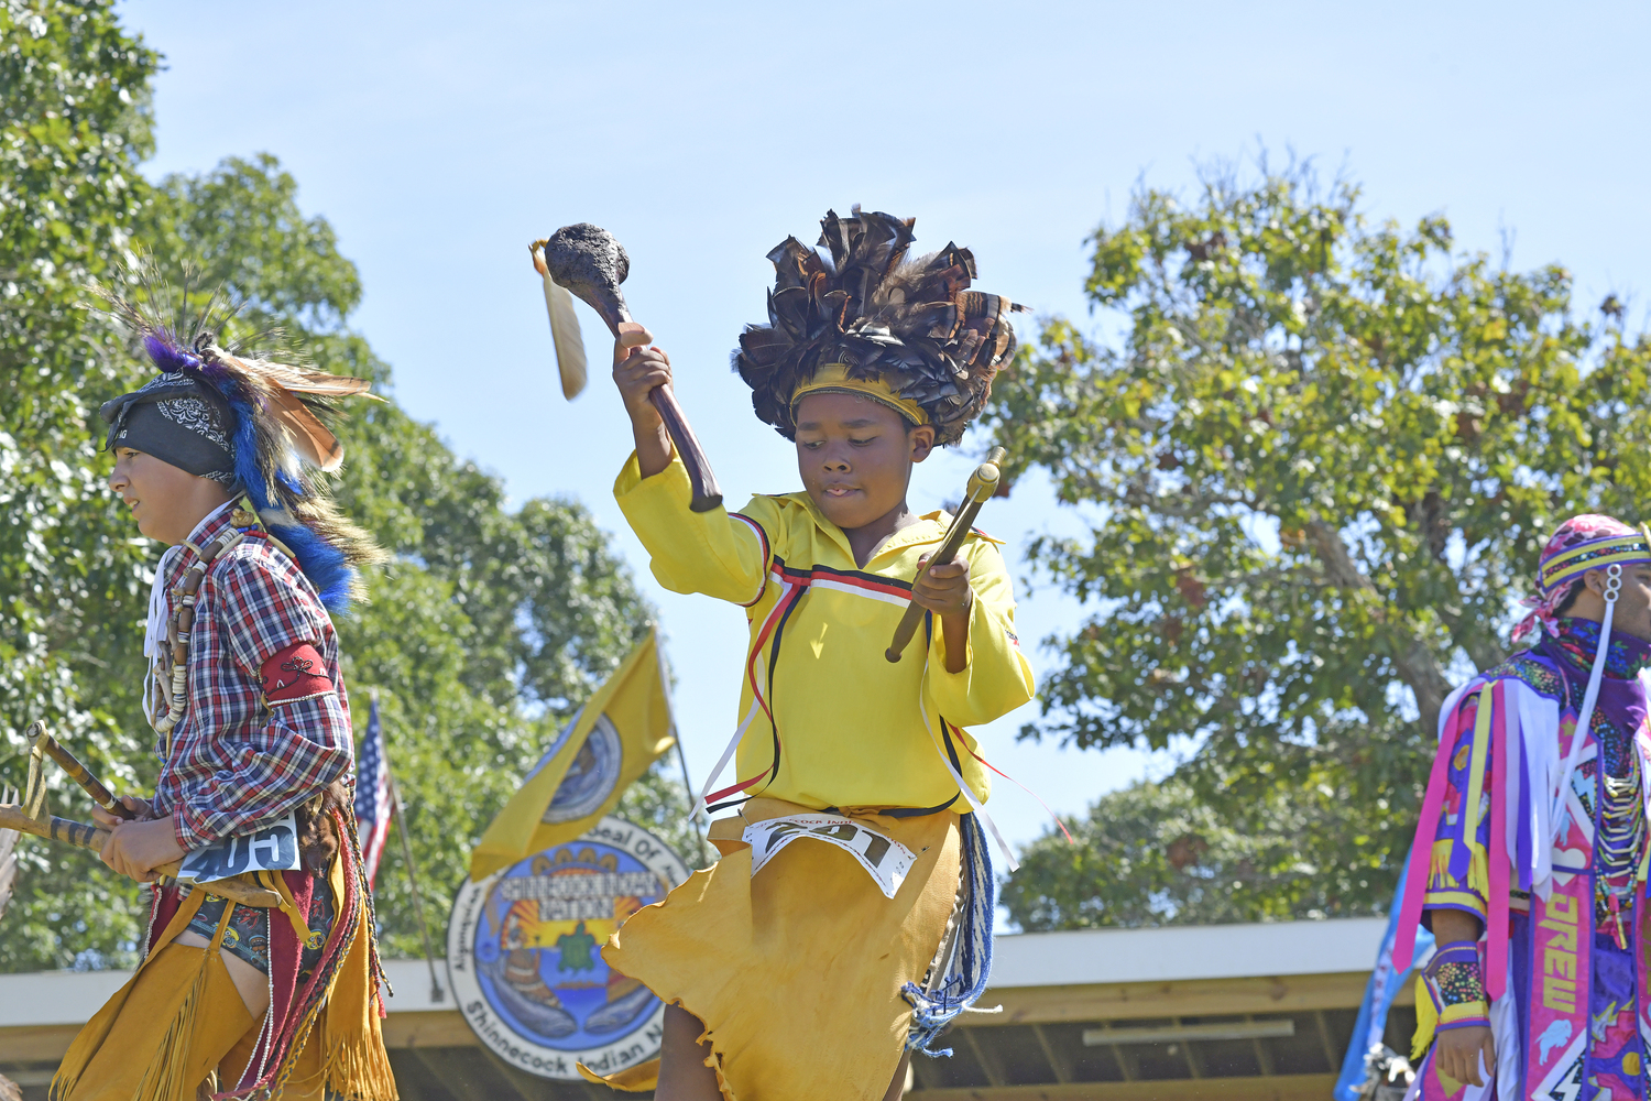
<path fill-rule="evenodd" d="M 1413 1093 L 1646 1096 L 1651 540 L 1567 520 L 1542 551 L 1529 649 L 1458 688 L 1405 872 L 1393 959 L 1418 924 Z"/>

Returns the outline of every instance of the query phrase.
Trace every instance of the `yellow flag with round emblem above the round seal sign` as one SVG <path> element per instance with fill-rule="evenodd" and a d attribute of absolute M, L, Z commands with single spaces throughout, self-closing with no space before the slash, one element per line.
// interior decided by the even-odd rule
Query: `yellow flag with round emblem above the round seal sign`
<path fill-rule="evenodd" d="M 573 840 L 675 744 L 659 639 L 639 647 L 561 728 L 471 853 L 471 880 Z"/>

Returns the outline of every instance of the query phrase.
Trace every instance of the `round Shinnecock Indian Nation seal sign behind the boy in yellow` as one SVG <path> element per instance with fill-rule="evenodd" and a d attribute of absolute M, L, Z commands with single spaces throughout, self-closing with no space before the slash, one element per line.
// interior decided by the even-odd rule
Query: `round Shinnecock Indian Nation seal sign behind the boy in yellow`
<path fill-rule="evenodd" d="M 604 817 L 479 883 L 447 923 L 447 981 L 464 1020 L 499 1058 L 563 1081 L 576 1063 L 613 1073 L 659 1055 L 665 1007 L 613 972 L 601 947 L 626 918 L 688 878 L 647 830 Z"/>

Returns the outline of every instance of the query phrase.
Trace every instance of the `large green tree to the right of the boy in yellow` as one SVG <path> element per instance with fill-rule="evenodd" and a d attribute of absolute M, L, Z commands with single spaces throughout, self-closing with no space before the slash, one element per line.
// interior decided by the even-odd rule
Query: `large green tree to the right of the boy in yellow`
<path fill-rule="evenodd" d="M 1190 736 L 1177 777 L 1223 820 L 1303 806 L 1301 862 L 1336 890 L 1293 913 L 1377 911 L 1438 710 L 1502 657 L 1542 540 L 1639 515 L 1651 342 L 1578 315 L 1557 264 L 1370 224 L 1301 168 L 1185 206 L 1142 190 L 1093 243 L 1119 337 L 1048 322 L 987 418 L 1010 469 L 1096 517 L 1032 545 L 1095 611 L 1052 639 L 1025 735 Z"/>

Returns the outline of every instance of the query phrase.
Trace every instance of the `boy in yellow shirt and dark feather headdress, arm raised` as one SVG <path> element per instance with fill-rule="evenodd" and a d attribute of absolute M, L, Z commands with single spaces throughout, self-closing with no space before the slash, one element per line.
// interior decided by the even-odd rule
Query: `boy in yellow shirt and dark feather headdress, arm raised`
<path fill-rule="evenodd" d="M 660 584 L 743 607 L 750 644 L 736 781 L 702 792 L 733 810 L 710 829 L 721 860 L 603 949 L 669 1007 L 660 1060 L 609 1084 L 670 1101 L 898 1098 L 910 1051 L 933 1051 L 986 984 L 991 786 L 966 726 L 1030 700 L 1034 678 L 997 541 L 976 532 L 916 578 L 948 517 L 913 513 L 906 487 L 979 413 L 1014 352 L 1014 307 L 967 289 L 966 249 L 906 259 L 911 226 L 827 213 L 829 259 L 796 238 L 769 253 L 771 324 L 741 335 L 735 366 L 758 418 L 796 444 L 801 492 L 692 512 L 649 401 L 669 360 L 646 332 L 619 338 L 636 454 L 614 494 Z M 890 664 L 910 602 L 928 617 Z"/>

